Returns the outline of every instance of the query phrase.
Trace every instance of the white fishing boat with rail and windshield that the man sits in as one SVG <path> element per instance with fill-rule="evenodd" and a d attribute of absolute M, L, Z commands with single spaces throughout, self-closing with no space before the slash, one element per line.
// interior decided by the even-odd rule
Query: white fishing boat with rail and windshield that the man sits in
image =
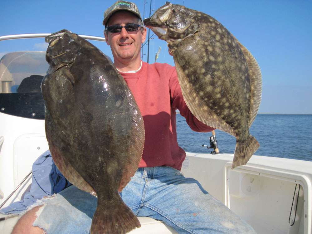
<path fill-rule="evenodd" d="M 1 36 L 0 41 L 43 38 L 50 33 Z M 88 40 L 103 37 L 80 35 Z M 17 51 L 0 61 L 0 204 L 19 201 L 30 190 L 32 164 L 48 149 L 40 79 L 45 51 Z M 232 167 L 233 154 L 187 152 L 182 173 L 249 223 L 258 234 L 311 234 L 312 162 L 253 155 Z M 176 233 L 163 222 L 138 217 L 129 233 Z M 0 214 L 0 231 L 11 233 L 18 217 Z"/>

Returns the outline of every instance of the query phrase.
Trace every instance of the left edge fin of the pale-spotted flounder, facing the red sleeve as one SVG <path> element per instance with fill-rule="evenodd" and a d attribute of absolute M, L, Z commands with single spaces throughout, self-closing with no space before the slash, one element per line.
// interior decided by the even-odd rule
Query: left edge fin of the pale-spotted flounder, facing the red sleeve
<path fill-rule="evenodd" d="M 186 105 L 191 110 L 193 115 L 202 123 L 209 125 L 212 128 L 220 129 L 223 132 L 236 136 L 234 130 L 222 118 L 216 115 L 209 107 L 197 96 L 196 92 L 185 76 L 183 69 L 179 63 L 174 60 L 178 74 L 178 80 L 181 86 L 183 98 Z M 207 118 L 209 116 L 209 118 Z"/>

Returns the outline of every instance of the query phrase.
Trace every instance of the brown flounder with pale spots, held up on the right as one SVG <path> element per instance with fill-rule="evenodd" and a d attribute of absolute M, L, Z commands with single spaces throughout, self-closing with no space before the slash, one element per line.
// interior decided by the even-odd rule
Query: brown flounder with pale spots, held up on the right
<path fill-rule="evenodd" d="M 183 97 L 203 123 L 236 137 L 232 168 L 259 148 L 249 134 L 261 100 L 261 72 L 251 53 L 217 20 L 169 2 L 145 19 L 168 42 Z"/>

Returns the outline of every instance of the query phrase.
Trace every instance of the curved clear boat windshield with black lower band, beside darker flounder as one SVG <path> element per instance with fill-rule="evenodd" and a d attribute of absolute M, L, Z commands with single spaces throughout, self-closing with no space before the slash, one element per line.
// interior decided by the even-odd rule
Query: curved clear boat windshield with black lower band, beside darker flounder
<path fill-rule="evenodd" d="M 0 60 L 0 112 L 44 119 L 41 81 L 49 64 L 45 51 L 19 51 Z"/>

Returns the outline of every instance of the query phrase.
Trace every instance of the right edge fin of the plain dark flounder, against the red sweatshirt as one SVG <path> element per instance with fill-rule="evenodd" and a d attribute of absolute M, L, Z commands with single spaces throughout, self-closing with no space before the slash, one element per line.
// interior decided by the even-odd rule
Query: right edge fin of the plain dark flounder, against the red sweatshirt
<path fill-rule="evenodd" d="M 131 91 L 129 90 L 131 93 Z M 133 98 L 133 95 L 128 95 L 130 99 Z M 131 137 L 129 142 L 129 154 L 124 165 L 124 172 L 120 181 L 118 191 L 121 192 L 124 187 L 129 183 L 131 177 L 134 176 L 134 173 L 138 170 L 139 163 L 141 161 L 143 148 L 144 148 L 144 122 L 142 115 L 139 111 L 139 107 L 135 100 L 130 100 L 130 103 L 134 103 L 131 107 Z"/>

